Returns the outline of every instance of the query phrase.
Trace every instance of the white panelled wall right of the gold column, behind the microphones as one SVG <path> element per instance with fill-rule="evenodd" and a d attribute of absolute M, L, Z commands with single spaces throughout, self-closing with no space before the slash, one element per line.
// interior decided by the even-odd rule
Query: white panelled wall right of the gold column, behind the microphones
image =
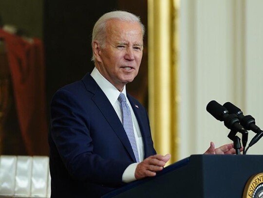
<path fill-rule="evenodd" d="M 262 0 L 181 0 L 179 159 L 232 142 L 206 111 L 211 100 L 232 102 L 263 129 L 262 9 Z M 263 139 L 248 154 L 263 154 Z"/>

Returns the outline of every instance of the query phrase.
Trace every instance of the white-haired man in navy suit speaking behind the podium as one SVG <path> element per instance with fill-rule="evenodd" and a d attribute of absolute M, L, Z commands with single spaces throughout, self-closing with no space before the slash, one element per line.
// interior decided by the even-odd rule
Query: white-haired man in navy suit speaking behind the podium
<path fill-rule="evenodd" d="M 51 197 L 99 198 L 133 180 L 153 177 L 170 159 L 157 155 L 146 109 L 126 93 L 142 59 L 144 26 L 128 12 L 106 13 L 94 25 L 93 72 L 59 89 L 51 104 Z M 131 141 L 120 94 L 130 110 Z M 206 153 L 235 153 L 232 144 Z"/>

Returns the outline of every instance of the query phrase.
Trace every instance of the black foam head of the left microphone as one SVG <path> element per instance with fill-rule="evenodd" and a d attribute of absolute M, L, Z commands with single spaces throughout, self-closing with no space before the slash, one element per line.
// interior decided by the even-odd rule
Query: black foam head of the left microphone
<path fill-rule="evenodd" d="M 228 114 L 227 109 L 215 100 L 212 100 L 207 104 L 207 111 L 219 121 L 224 121 L 223 116 Z"/>

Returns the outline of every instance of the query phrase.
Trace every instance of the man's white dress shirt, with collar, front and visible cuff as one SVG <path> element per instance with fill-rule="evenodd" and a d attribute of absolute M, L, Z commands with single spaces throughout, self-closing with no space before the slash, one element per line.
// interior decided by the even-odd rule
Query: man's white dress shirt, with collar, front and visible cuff
<path fill-rule="evenodd" d="M 91 76 L 94 78 L 100 89 L 105 93 L 107 98 L 109 99 L 110 103 L 112 104 L 114 110 L 116 111 L 121 123 L 122 123 L 122 112 L 120 109 L 120 102 L 118 101 L 119 94 L 121 93 L 119 90 L 117 90 L 113 84 L 111 84 L 106 78 L 104 78 L 101 73 L 94 67 L 94 70 L 91 73 Z M 124 86 L 122 93 L 124 93 L 126 96 L 126 86 Z M 133 123 L 133 130 L 134 130 L 134 136 L 137 144 L 137 149 L 139 153 L 139 159 L 140 162 L 144 159 L 144 145 L 143 145 L 143 139 L 140 131 L 140 127 L 138 124 L 138 121 L 136 119 L 136 116 L 133 112 L 133 109 L 131 108 L 130 101 L 127 100 L 127 103 L 131 109 L 131 117 L 132 117 L 132 123 Z M 137 163 L 132 163 L 129 165 L 126 170 L 124 171 L 122 175 L 122 181 L 124 182 L 130 182 L 135 179 L 134 173 L 135 169 L 137 167 Z"/>

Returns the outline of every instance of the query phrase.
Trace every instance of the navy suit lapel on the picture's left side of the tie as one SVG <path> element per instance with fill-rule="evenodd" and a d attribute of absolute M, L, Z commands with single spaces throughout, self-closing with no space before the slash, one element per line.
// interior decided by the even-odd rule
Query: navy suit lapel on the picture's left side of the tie
<path fill-rule="evenodd" d="M 100 89 L 100 87 L 97 85 L 97 83 L 89 73 L 86 74 L 86 76 L 82 80 L 85 83 L 86 89 L 94 93 L 92 100 L 99 108 L 99 110 L 101 111 L 107 122 L 109 123 L 109 125 L 113 128 L 113 131 L 116 133 L 116 135 L 118 136 L 118 138 L 120 139 L 120 141 L 122 142 L 128 153 L 130 154 L 132 160 L 136 162 L 135 156 L 131 148 L 131 143 L 119 120 L 118 115 L 116 114 L 107 96 Z"/>

